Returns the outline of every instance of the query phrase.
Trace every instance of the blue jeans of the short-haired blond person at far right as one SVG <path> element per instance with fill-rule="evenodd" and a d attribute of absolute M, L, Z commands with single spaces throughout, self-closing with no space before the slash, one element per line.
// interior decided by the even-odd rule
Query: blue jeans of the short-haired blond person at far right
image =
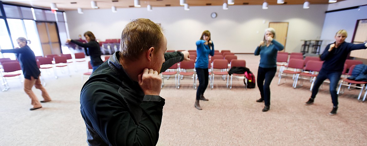
<path fill-rule="evenodd" d="M 311 98 L 315 99 L 321 84 L 325 81 L 325 79 L 329 79 L 331 100 L 333 101 L 334 106 L 338 106 L 337 86 L 341 75 L 342 72 L 328 72 L 321 70 L 319 75 L 317 75 L 315 85 L 312 88 Z"/>

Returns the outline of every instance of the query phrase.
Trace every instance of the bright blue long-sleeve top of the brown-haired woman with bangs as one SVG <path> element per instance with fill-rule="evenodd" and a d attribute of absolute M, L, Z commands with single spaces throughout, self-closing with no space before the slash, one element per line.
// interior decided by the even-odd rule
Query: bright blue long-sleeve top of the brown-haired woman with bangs
<path fill-rule="evenodd" d="M 196 42 L 196 63 L 195 68 L 208 68 L 209 54 L 214 56 L 214 43 L 211 42 L 211 49 L 208 45 L 204 44 L 206 40 L 198 40 Z"/>

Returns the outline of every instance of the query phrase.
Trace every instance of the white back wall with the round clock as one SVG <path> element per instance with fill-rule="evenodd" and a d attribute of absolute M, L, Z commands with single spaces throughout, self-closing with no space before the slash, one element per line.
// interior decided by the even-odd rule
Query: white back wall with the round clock
<path fill-rule="evenodd" d="M 168 50 L 195 50 L 201 33 L 209 30 L 215 49 L 235 53 L 253 53 L 269 22 L 289 22 L 286 51 L 299 52 L 301 39 L 320 37 L 327 7 L 327 4 L 311 4 L 309 9 L 303 9 L 302 5 L 270 5 L 268 10 L 262 10 L 260 5 L 252 5 L 222 10 L 222 6 L 196 6 L 189 11 L 183 7 L 153 7 L 151 12 L 146 8 L 118 8 L 117 13 L 110 9 L 84 10 L 84 14 L 66 11 L 66 18 L 72 39 L 86 31 L 102 41 L 120 38 L 131 19 L 148 18 L 165 29 Z M 212 19 L 212 12 L 218 17 Z"/>

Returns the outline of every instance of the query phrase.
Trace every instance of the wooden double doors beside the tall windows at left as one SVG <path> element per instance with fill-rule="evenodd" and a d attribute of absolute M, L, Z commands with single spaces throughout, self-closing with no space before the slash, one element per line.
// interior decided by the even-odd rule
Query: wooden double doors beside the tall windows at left
<path fill-rule="evenodd" d="M 36 22 L 43 55 L 61 54 L 61 45 L 55 22 Z"/>

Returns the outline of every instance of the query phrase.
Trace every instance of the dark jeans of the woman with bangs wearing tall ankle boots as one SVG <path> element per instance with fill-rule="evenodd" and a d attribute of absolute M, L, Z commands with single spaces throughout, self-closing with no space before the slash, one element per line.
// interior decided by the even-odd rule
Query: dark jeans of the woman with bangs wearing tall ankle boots
<path fill-rule="evenodd" d="M 196 90 L 196 100 L 200 100 L 200 95 L 204 95 L 209 82 L 208 68 L 195 68 L 197 79 L 199 79 L 199 87 Z"/>

